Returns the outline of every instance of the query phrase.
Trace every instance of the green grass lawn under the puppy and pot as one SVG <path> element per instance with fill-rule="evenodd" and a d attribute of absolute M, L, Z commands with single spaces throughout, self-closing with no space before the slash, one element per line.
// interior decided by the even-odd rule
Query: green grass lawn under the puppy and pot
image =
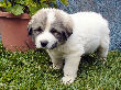
<path fill-rule="evenodd" d="M 2 90 L 121 90 L 121 53 L 118 50 L 109 52 L 106 66 L 95 55 L 84 58 L 76 81 L 69 86 L 59 81 L 63 71 L 51 67 L 44 50 L 10 53 L 0 44 Z"/>

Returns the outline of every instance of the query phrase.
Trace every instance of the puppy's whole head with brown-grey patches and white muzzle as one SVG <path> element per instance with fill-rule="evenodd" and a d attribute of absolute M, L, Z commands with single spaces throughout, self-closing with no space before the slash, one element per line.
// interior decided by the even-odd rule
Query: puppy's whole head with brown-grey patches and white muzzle
<path fill-rule="evenodd" d="M 28 30 L 37 48 L 53 49 L 72 35 L 73 23 L 69 14 L 62 10 L 42 9 L 32 16 Z"/>

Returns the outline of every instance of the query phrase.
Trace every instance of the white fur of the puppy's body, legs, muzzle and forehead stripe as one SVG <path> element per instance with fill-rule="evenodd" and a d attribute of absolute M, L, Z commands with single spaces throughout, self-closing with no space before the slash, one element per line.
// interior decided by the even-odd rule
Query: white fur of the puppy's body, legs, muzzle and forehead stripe
<path fill-rule="evenodd" d="M 63 11 L 61 12 L 64 13 Z M 100 14 L 95 12 L 78 12 L 75 14 L 65 14 L 65 16 L 67 15 L 73 21 L 73 34 L 64 45 L 57 46 L 54 49 L 47 49 L 55 69 L 62 68 L 63 58 L 65 58 L 63 83 L 74 82 L 82 55 L 94 53 L 98 49 L 99 57 L 106 58 L 110 41 L 108 22 Z M 50 22 L 54 22 L 54 12 L 48 18 Z M 36 46 L 40 47 L 40 41 L 45 38 L 51 42 L 51 45 L 57 41 L 45 30 L 43 34 L 36 37 Z M 48 44 L 47 47 L 51 45 Z"/>

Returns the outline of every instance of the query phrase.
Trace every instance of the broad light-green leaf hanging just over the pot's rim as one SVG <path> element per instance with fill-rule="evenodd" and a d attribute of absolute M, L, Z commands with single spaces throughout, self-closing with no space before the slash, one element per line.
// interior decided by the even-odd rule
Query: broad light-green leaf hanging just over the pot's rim
<path fill-rule="evenodd" d="M 7 9 L 7 11 L 10 12 L 10 13 L 13 13 L 14 15 L 20 15 L 20 14 L 24 13 L 23 12 L 23 7 L 20 5 L 20 4 L 15 4 L 14 7 L 9 7 Z"/>

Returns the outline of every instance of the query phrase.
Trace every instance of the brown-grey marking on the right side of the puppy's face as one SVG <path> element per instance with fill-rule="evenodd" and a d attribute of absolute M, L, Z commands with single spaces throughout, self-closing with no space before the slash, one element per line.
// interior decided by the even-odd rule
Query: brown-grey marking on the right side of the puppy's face
<path fill-rule="evenodd" d="M 66 14 L 67 15 L 67 14 Z M 52 34 L 63 44 L 73 33 L 73 23 L 69 15 L 65 16 L 62 11 L 55 11 L 55 21 L 52 23 L 50 31 L 55 31 Z"/>

